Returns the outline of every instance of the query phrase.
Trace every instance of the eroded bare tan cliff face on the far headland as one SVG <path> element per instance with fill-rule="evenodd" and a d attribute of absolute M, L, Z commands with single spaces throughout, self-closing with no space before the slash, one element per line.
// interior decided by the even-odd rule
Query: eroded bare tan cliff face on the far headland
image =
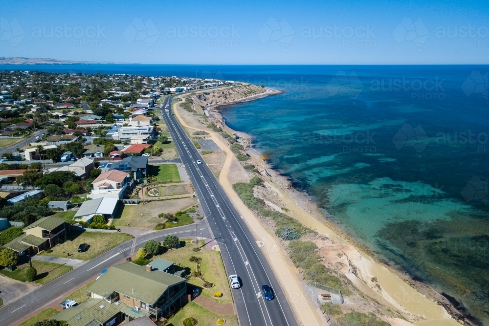
<path fill-rule="evenodd" d="M 243 100 L 246 97 L 265 93 L 266 89 L 252 84 L 236 85 L 225 89 L 210 89 L 202 93 L 196 93 L 190 98 L 196 105 L 205 107 Z"/>

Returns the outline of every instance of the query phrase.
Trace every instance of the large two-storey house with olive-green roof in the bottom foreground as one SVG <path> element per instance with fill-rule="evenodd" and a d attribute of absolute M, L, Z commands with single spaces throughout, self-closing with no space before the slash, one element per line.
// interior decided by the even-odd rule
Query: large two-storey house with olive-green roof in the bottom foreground
<path fill-rule="evenodd" d="M 184 278 L 151 265 L 126 262 L 109 268 L 87 291 L 93 299 L 104 299 L 109 304 L 120 301 L 127 305 L 121 310 L 127 318 L 144 313 L 156 322 L 187 302 L 186 282 Z"/>

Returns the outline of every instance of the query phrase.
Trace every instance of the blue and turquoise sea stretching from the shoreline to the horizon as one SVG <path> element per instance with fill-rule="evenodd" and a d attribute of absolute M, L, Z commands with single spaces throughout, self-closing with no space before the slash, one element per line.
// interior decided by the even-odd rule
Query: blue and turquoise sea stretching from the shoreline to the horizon
<path fill-rule="evenodd" d="M 227 124 L 381 260 L 489 325 L 488 66 L 22 65 L 284 90 Z"/>

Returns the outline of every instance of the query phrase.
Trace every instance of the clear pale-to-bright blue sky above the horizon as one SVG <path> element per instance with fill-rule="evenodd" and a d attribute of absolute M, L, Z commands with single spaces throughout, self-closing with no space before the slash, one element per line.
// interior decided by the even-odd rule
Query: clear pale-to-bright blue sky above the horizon
<path fill-rule="evenodd" d="M 142 64 L 489 63 L 487 0 L 31 0 L 4 1 L 0 17 L 0 56 L 6 57 Z"/>

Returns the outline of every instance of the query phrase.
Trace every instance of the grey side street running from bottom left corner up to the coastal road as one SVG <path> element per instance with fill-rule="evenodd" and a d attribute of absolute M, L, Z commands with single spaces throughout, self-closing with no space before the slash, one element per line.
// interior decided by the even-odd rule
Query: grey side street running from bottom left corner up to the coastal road
<path fill-rule="evenodd" d="M 0 325 L 11 325 L 20 320 L 25 315 L 51 303 L 60 296 L 74 289 L 78 284 L 84 283 L 100 273 L 101 270 L 109 268 L 117 262 L 129 257 L 132 252 L 137 251 L 144 243 L 150 239 L 163 241 L 165 236 L 175 234 L 178 237 L 192 237 L 196 233 L 195 224 L 181 226 L 178 228 L 154 231 L 132 240 L 126 241 L 106 253 L 87 261 L 85 264 L 76 267 L 59 278 L 44 284 L 38 289 L 23 295 L 13 301 L 8 298 L 8 293 L 2 293 L 2 297 L 7 296 L 10 302 L 0 308 Z M 210 238 L 207 222 L 204 220 L 199 223 L 199 237 Z M 1 290 L 1 284 L 0 284 Z M 5 297 L 4 297 L 5 298 Z M 6 300 L 5 300 L 6 301 Z"/>

